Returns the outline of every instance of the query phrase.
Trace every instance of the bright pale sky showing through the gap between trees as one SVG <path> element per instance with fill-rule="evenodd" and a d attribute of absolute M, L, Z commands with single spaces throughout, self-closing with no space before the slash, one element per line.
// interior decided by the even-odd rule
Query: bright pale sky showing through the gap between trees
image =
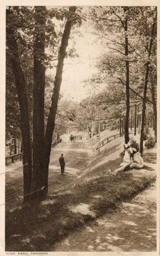
<path fill-rule="evenodd" d="M 90 90 L 89 85 L 84 86 L 84 80 L 91 79 L 93 74 L 98 73 L 96 67 L 97 57 L 107 52 L 107 48 L 103 43 L 96 42 L 97 35 L 93 34 L 93 27 L 91 27 L 89 21 L 83 22 L 83 25 L 78 30 L 80 33 L 74 33 L 73 40 L 76 54 L 79 57 L 65 59 L 60 93 L 64 99 L 79 102 L 88 96 Z M 55 74 L 55 68 L 48 69 L 46 74 Z M 104 87 L 104 84 L 99 85 L 95 93 L 98 93 Z"/>

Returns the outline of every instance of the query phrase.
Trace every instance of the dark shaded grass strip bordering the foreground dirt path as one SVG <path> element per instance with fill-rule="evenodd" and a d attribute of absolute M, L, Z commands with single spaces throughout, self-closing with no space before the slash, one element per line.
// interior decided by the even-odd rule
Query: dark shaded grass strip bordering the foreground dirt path
<path fill-rule="evenodd" d="M 6 251 L 49 251 L 50 245 L 62 240 L 69 232 L 80 228 L 89 220 L 103 215 L 119 200 L 136 195 L 153 178 L 138 180 L 131 173 L 101 174 L 87 181 L 79 180 L 69 191 L 59 191 L 40 203 L 24 204 L 6 211 Z M 94 195 L 100 195 L 95 198 Z M 90 204 L 96 217 L 73 213 L 69 206 Z"/>

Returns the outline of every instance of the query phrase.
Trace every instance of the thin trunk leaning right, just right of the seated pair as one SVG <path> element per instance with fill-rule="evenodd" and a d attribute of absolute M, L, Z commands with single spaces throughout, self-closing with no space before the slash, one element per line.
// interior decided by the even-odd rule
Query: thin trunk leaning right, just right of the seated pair
<path fill-rule="evenodd" d="M 154 28 L 155 23 L 157 19 L 157 12 L 156 16 L 154 18 L 152 30 L 151 30 L 151 39 L 149 43 L 149 51 L 148 51 L 148 58 L 151 56 L 151 50 L 154 40 Z M 150 61 L 147 61 L 146 63 L 146 74 L 145 74 L 145 80 L 144 80 L 144 91 L 143 91 L 143 103 L 142 103 L 142 114 L 141 114 L 141 128 L 140 128 L 140 143 L 139 143 L 139 152 L 141 155 L 143 154 L 143 133 L 144 133 L 144 121 L 145 121 L 145 108 L 146 108 L 146 96 L 147 96 L 147 85 L 148 85 L 148 75 L 149 75 L 149 64 Z"/>

